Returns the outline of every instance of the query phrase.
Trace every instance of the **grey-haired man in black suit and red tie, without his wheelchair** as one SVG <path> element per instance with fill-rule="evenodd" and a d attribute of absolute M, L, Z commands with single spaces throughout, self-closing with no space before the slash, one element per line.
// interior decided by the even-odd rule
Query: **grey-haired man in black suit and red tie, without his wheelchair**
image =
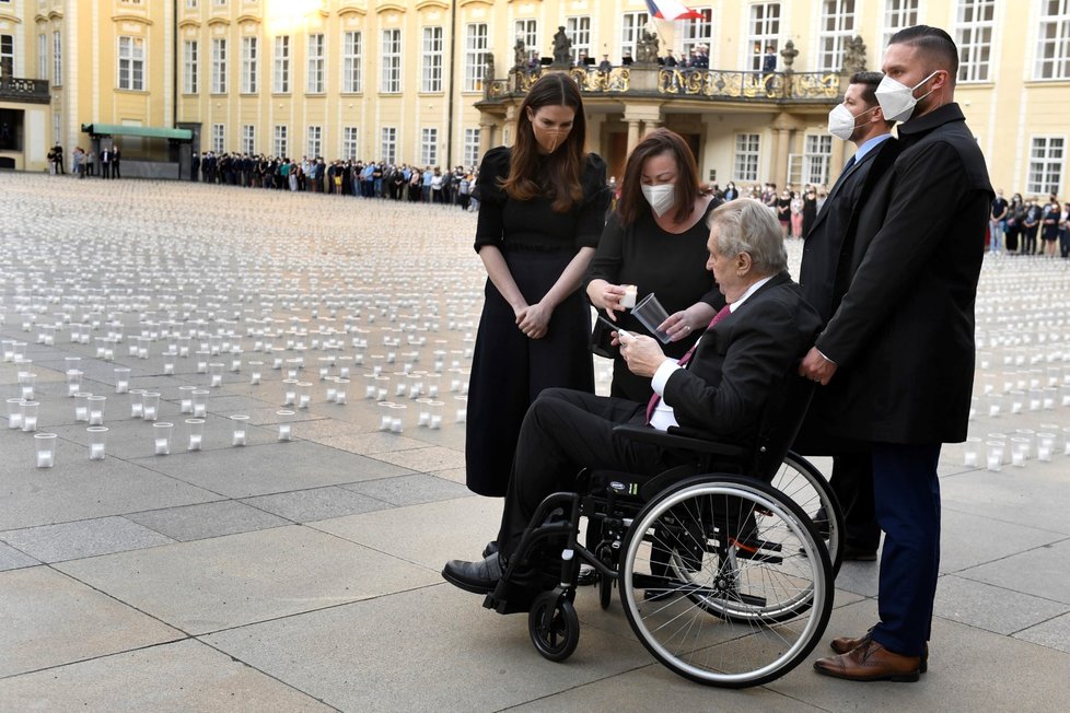
<path fill-rule="evenodd" d="M 649 337 L 619 337 L 628 367 L 652 377 L 655 397 L 649 404 L 571 389 L 543 391 L 521 428 L 500 550 L 481 561 L 449 562 L 442 572 L 447 582 L 468 592 L 493 589 L 543 498 L 574 489 L 579 468 L 654 475 L 679 465 L 660 446 L 614 433 L 617 424 L 676 426 L 695 437 L 752 445 L 763 411 L 819 320 L 788 276 L 780 225 L 768 208 L 741 198 L 717 208 L 709 222 L 707 269 L 728 304 L 694 352 L 677 363 Z"/>

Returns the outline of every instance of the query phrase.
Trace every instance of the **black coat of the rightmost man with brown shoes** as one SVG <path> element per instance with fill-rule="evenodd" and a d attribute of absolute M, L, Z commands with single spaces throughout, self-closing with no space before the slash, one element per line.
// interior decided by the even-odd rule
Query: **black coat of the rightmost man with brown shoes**
<path fill-rule="evenodd" d="M 859 210 L 850 287 L 817 339 L 839 365 L 840 408 L 826 428 L 873 442 L 963 441 L 993 191 L 957 104 L 900 125 L 899 145 Z"/>

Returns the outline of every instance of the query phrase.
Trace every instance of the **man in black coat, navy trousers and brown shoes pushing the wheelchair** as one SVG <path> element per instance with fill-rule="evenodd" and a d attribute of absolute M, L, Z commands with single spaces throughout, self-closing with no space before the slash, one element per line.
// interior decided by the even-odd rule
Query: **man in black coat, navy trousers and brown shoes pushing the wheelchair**
<path fill-rule="evenodd" d="M 877 623 L 833 640 L 818 673 L 847 680 L 917 681 L 940 565 L 943 443 L 964 441 L 974 378 L 974 302 L 995 196 L 954 101 L 958 48 L 943 30 L 892 36 L 876 91 L 900 121 L 899 155 L 861 206 L 850 283 L 800 374 L 845 384 L 839 437 L 867 441 L 885 533 Z"/>

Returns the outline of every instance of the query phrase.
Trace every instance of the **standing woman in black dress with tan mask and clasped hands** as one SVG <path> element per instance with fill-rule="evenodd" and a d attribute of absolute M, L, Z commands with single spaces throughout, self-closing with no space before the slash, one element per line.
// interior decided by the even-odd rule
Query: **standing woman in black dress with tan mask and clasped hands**
<path fill-rule="evenodd" d="M 487 268 L 468 387 L 468 488 L 502 496 L 521 422 L 539 391 L 594 390 L 591 313 L 579 292 L 609 204 L 605 162 L 583 151 L 575 82 L 544 74 L 520 106 L 516 143 L 479 167 L 476 252 Z"/>

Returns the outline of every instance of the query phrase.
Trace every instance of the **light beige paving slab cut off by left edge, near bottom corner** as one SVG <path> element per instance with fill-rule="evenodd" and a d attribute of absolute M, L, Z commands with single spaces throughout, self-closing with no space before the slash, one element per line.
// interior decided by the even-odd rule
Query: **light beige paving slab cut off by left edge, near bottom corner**
<path fill-rule="evenodd" d="M 14 700 L 3 677 L 184 636 L 46 566 L 0 573 L 0 710 Z"/>

